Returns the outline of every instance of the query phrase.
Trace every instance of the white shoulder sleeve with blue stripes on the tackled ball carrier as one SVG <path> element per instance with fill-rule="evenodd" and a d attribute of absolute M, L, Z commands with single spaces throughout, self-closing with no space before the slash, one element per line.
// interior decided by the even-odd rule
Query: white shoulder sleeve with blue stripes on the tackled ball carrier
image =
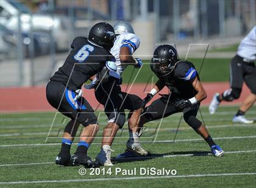
<path fill-rule="evenodd" d="M 122 41 L 121 47 L 128 47 L 130 54 L 132 54 L 135 52 L 135 50 L 138 49 L 138 47 L 140 47 L 140 38 L 138 38 L 138 36 L 133 33 L 128 33 L 126 38 L 124 38 Z"/>

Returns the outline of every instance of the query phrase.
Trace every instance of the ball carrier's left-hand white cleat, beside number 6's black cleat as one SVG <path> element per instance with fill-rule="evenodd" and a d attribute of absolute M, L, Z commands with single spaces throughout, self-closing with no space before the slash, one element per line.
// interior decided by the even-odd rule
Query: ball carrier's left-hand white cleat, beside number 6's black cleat
<path fill-rule="evenodd" d="M 112 150 L 110 146 L 102 146 L 101 152 L 99 152 L 99 154 L 96 156 L 96 162 L 102 166 L 113 166 L 113 163 L 110 159 L 111 152 L 114 152 L 114 150 Z"/>

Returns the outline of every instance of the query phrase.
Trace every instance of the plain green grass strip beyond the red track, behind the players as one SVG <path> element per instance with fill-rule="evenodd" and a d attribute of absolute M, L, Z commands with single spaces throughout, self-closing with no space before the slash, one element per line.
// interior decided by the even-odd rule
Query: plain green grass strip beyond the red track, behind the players
<path fill-rule="evenodd" d="M 235 53 L 234 53 L 235 54 Z M 202 59 L 198 58 L 188 58 L 188 61 L 193 62 L 196 67 L 196 70 L 200 72 L 200 78 L 204 82 L 218 82 L 218 81 L 229 81 L 229 63 L 231 59 L 214 59 L 214 58 L 206 58 L 204 64 L 202 64 Z M 157 81 L 157 77 L 151 71 L 149 67 L 150 61 L 143 61 L 143 69 L 140 69 L 138 73 L 138 69 L 135 69 L 133 66 L 128 66 L 127 70 L 123 73 L 123 81 L 129 82 L 133 81 L 135 76 L 135 82 L 144 83 L 152 81 Z"/>

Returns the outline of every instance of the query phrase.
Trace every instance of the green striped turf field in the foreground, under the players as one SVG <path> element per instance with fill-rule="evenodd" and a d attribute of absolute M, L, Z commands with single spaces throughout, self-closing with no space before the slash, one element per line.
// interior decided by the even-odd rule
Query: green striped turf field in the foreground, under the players
<path fill-rule="evenodd" d="M 157 136 L 159 121 L 146 124 L 148 129 L 141 141 L 154 158 L 115 163 L 112 175 L 84 176 L 78 173 L 82 166 L 60 167 L 54 164 L 60 149 L 58 143 L 61 141 L 63 124 L 68 120 L 64 116 L 57 115 L 48 143 L 37 146 L 35 144 L 44 144 L 54 113 L 1 114 L 0 187 L 255 187 L 256 124 L 233 124 L 230 119 L 236 109 L 237 107 L 220 107 L 216 115 L 209 115 L 207 108 L 201 108 L 210 134 L 226 152 L 221 158 L 209 155 L 208 145 L 183 119 L 173 143 L 181 116 L 178 113 L 163 119 Z M 247 118 L 256 120 L 255 114 L 256 106 L 247 113 Z M 202 119 L 200 113 L 198 117 Z M 101 113 L 101 130 L 88 152 L 92 158 L 99 152 L 102 127 L 106 122 L 106 116 Z M 126 129 L 127 124 L 123 132 L 118 132 L 112 156 L 125 149 L 128 136 Z M 152 143 L 154 139 L 155 143 Z M 75 149 L 76 144 L 73 145 L 72 152 Z M 165 167 L 166 170 L 177 170 L 177 175 L 115 175 L 116 167 L 123 170 Z M 90 169 L 87 171 L 89 173 Z"/>

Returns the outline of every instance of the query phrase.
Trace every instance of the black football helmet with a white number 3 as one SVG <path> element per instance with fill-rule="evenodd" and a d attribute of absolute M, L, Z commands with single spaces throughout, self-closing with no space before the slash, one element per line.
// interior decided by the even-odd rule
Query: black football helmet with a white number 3
<path fill-rule="evenodd" d="M 159 77 L 169 75 L 178 61 L 177 50 L 168 44 L 158 46 L 151 59 L 151 69 Z"/>

